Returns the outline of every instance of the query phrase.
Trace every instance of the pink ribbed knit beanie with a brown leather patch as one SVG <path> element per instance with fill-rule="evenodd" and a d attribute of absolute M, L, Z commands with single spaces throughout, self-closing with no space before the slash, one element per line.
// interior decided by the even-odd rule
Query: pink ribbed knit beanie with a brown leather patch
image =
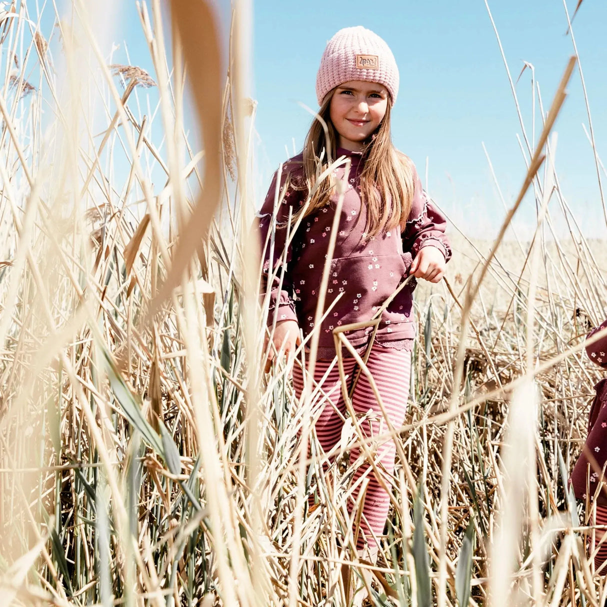
<path fill-rule="evenodd" d="M 398 67 L 394 55 L 384 40 L 362 25 L 345 27 L 327 42 L 316 76 L 319 106 L 331 89 L 350 80 L 383 84 L 395 104 Z"/>

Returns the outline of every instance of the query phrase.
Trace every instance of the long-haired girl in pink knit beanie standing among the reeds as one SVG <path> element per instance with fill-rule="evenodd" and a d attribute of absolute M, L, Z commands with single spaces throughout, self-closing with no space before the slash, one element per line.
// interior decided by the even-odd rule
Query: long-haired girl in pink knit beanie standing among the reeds
<path fill-rule="evenodd" d="M 268 326 L 276 351 L 293 353 L 300 332 L 307 336 L 319 331 L 319 351 L 314 381 L 321 383 L 327 402 L 316 421 L 316 435 L 325 452 L 341 438 L 348 413 L 339 389 L 335 366 L 324 378 L 336 355 L 333 330 L 370 320 L 407 276 L 439 282 L 451 251 L 444 229 L 445 219 L 426 192 L 415 166 L 396 151 L 390 138 L 390 112 L 398 93 L 398 68 L 387 44 L 364 27 L 342 29 L 327 44 L 316 78 L 318 114 L 324 126 L 314 120 L 304 150 L 283 166 L 280 181 L 274 175 L 270 191 L 259 214 L 264 244 L 263 290 L 270 291 Z M 347 178 L 336 245 L 331 262 L 325 310 L 333 305 L 320 327 L 314 327 L 317 295 L 327 257 L 334 212 L 339 195 L 336 181 L 344 178 L 344 166 L 328 175 L 316 189 L 317 175 L 331 160 L 347 157 L 351 168 Z M 279 181 L 279 183 L 277 183 Z M 279 192 L 276 188 L 279 187 Z M 309 200 L 309 205 L 304 208 Z M 278 197 L 275 209 L 275 198 Z M 287 228 L 302 216 L 299 228 L 287 246 Z M 273 246 L 268 233 L 276 220 Z M 285 246 L 287 251 L 285 254 Z M 284 265 L 284 267 L 283 267 Z M 393 426 L 402 426 L 409 395 L 410 356 L 415 337 L 412 305 L 415 281 L 399 291 L 381 316 L 367 367 L 378 386 Z M 364 351 L 371 328 L 347 334 L 348 341 Z M 344 356 L 347 352 L 344 351 Z M 356 363 L 345 359 L 345 373 L 353 378 Z M 324 379 L 323 379 L 324 378 Z M 293 370 L 297 395 L 304 385 L 303 371 Z M 361 374 L 352 395 L 352 405 L 364 416 L 362 430 L 378 435 L 387 429 L 368 378 Z M 369 415 L 372 410 L 375 415 Z M 359 458 L 350 454 L 350 463 Z M 359 549 L 367 547 L 371 558 L 377 553 L 388 513 L 395 464 L 393 441 L 377 447 L 376 469 L 383 472 L 380 483 L 367 466 L 353 478 L 353 501 L 359 482 L 368 479 L 362 500 Z M 382 486 L 383 484 L 383 486 Z"/>

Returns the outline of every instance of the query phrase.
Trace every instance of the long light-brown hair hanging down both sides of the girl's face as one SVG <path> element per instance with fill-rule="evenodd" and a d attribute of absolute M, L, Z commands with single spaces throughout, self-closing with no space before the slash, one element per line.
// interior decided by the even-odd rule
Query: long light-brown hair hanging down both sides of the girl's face
<path fill-rule="evenodd" d="M 322 183 L 317 183 L 320 175 L 334 159 L 339 135 L 330 118 L 330 105 L 333 92 L 327 95 L 318 115 L 323 124 L 314 118 L 306 135 L 303 152 L 303 180 L 299 188 L 313 192 L 310 204 L 294 216 L 316 212 L 327 205 L 334 190 L 331 175 Z M 390 103 L 384 119 L 378 129 L 365 142 L 363 152 L 365 166 L 360 177 L 360 194 L 362 202 L 367 205 L 367 238 L 377 236 L 379 232 L 404 225 L 409 219 L 413 200 L 413 168 L 404 154 L 398 152 L 390 136 Z M 298 187 L 296 183 L 291 184 Z"/>

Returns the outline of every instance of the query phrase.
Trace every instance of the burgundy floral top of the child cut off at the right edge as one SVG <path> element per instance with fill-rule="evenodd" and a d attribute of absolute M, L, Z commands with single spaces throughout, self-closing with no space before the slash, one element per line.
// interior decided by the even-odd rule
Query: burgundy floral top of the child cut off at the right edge
<path fill-rule="evenodd" d="M 599 327 L 592 329 L 588 333 L 588 337 L 592 337 L 597 331 L 605 327 L 607 327 L 607 320 L 604 320 Z M 586 353 L 588 353 L 592 362 L 607 369 L 607 336 L 603 336 L 594 344 L 587 345 Z M 571 473 L 571 484 L 578 500 L 586 499 L 586 476 L 588 471 L 590 473 L 588 478 L 590 495 L 588 497 L 592 500 L 601 470 L 607 460 L 607 379 L 603 378 L 595 385 L 595 390 L 596 396 L 588 415 L 586 444 Z M 607 477 L 607 474 L 605 476 Z M 607 483 L 607 478 L 604 478 L 603 482 Z M 605 489 L 599 493 L 597 503 L 607 506 L 607 491 Z"/>

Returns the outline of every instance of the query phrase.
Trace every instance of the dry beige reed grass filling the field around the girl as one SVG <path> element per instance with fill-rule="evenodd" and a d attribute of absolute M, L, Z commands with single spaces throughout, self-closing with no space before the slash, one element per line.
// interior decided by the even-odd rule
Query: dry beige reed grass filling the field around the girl
<path fill-rule="evenodd" d="M 373 605 L 602 605 L 584 548 L 592 512 L 580 518 L 566 489 L 599 375 L 583 335 L 603 319 L 607 289 L 600 245 L 577 229 L 554 172 L 548 136 L 565 86 L 535 154 L 521 120 L 534 239 L 455 237 L 446 282 L 417 292 L 412 399 L 405 426 L 383 437 L 395 436 L 398 461 L 372 565 L 353 557 L 354 470 L 342 457 L 361 444 L 372 458 L 367 441 L 347 426 L 323 475 L 319 391 L 308 382 L 297 404 L 288 367 L 263 376 L 246 5 L 236 4 L 225 89 L 205 2 L 199 13 L 171 4 L 172 70 L 159 0 L 151 14 L 138 7 L 155 80 L 106 65 L 83 2 L 80 27 L 61 27 L 73 33 L 61 41 L 72 101 L 70 53 L 96 61 L 100 137 L 76 137 L 86 115 L 59 106 L 38 18 L 13 4 L 0 22 L 5 75 L 29 40 L 0 92 L 0 603 L 341 606 L 351 563 L 375 572 Z M 25 75 L 38 79 L 27 97 Z M 202 172 L 184 129 L 186 75 Z M 158 88 L 164 145 L 138 111 L 137 84 Z M 554 232 L 556 215 L 569 236 Z"/>

